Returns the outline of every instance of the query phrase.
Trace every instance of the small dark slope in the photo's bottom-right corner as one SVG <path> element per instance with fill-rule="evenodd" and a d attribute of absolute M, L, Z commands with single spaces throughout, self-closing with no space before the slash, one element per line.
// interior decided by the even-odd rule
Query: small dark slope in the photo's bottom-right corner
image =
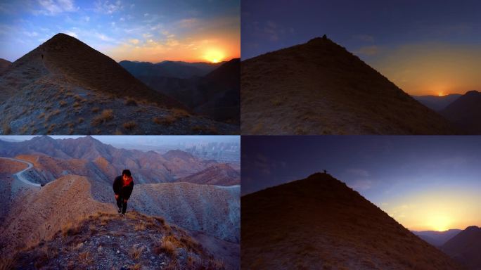
<path fill-rule="evenodd" d="M 469 226 L 444 243 L 441 250 L 468 269 L 481 269 L 481 228 Z"/>

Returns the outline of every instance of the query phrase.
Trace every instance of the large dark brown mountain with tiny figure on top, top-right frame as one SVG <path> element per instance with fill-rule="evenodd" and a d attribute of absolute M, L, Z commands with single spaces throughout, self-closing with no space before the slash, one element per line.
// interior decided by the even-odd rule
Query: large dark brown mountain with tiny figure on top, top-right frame
<path fill-rule="evenodd" d="M 447 120 L 327 38 L 244 60 L 243 134 L 453 134 Z"/>

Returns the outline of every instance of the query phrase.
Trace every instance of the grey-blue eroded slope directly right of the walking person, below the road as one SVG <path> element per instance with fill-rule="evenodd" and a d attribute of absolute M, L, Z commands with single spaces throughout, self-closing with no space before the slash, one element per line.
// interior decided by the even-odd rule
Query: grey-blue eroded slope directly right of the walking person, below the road
<path fill-rule="evenodd" d="M 142 184 L 135 186 L 130 204 L 139 212 L 164 217 L 185 229 L 239 243 L 240 194 L 240 186 Z"/>

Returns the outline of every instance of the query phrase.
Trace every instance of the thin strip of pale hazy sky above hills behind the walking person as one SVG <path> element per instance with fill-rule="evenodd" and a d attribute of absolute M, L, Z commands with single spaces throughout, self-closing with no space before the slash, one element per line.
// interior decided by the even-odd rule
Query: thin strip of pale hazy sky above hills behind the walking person
<path fill-rule="evenodd" d="M 8 135 L 0 136 L 0 140 L 4 141 L 27 141 L 35 136 L 30 135 Z M 53 139 L 77 139 L 84 136 L 51 136 Z M 175 136 L 175 135 L 162 135 L 162 136 L 139 136 L 139 135 L 94 135 L 94 139 L 101 141 L 102 143 L 107 143 L 112 146 L 169 146 L 177 145 L 179 143 L 240 143 L 240 136 L 217 136 L 217 135 L 203 135 L 203 136 Z M 144 147 L 142 147 L 144 148 Z"/>

